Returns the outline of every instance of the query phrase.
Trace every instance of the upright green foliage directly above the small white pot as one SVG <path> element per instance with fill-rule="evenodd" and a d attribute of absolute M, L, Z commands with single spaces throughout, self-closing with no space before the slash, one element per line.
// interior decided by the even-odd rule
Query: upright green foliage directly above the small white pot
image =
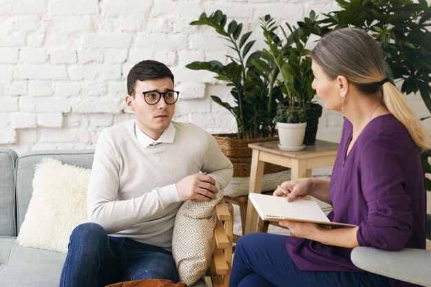
<path fill-rule="evenodd" d="M 311 58 L 308 56 L 306 45 L 311 34 L 322 34 L 315 12 L 310 17 L 292 27 L 286 23 L 288 34 L 282 26 L 275 24 L 271 15 L 260 18 L 260 27 L 268 49 L 262 52 L 269 62 L 277 67 L 282 80 L 277 80 L 282 93 L 285 95 L 283 103 L 278 105 L 275 122 L 304 123 L 306 121 L 305 109 L 311 103 L 315 91 L 311 87 L 313 72 L 311 71 Z M 278 29 L 282 31 L 282 39 L 277 35 Z M 284 109 L 284 110 L 283 110 Z"/>

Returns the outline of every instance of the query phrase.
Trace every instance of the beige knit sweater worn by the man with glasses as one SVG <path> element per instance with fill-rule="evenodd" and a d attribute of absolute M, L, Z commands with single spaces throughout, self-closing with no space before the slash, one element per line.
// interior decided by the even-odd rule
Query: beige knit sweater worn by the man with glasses
<path fill-rule="evenodd" d="M 175 183 L 202 171 L 218 189 L 227 186 L 233 166 L 213 136 L 196 125 L 172 123 L 173 143 L 146 148 L 136 139 L 134 120 L 102 131 L 88 187 L 90 222 L 110 235 L 170 250 L 182 204 Z"/>

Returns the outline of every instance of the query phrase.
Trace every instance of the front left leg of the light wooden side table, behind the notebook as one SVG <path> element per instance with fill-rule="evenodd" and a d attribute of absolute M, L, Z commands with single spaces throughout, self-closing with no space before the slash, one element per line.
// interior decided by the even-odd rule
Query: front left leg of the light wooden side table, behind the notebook
<path fill-rule="evenodd" d="M 253 156 L 251 158 L 249 193 L 262 192 L 262 179 L 264 177 L 265 162 L 259 160 L 259 152 L 260 151 L 253 149 Z M 258 215 L 253 207 L 253 204 L 249 202 L 247 204 L 247 215 L 244 234 L 255 233 L 257 231 L 257 216 Z"/>

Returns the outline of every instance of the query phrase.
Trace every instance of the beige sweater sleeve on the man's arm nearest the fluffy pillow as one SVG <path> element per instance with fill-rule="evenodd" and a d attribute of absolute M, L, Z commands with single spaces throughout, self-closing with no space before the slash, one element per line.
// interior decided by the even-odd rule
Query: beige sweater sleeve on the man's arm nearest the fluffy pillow
<path fill-rule="evenodd" d="M 107 233 L 116 233 L 135 224 L 154 220 L 169 204 L 180 202 L 175 184 L 158 187 L 137 198 L 118 200 L 121 158 L 112 137 L 101 133 L 87 191 L 87 217 L 101 224 Z"/>

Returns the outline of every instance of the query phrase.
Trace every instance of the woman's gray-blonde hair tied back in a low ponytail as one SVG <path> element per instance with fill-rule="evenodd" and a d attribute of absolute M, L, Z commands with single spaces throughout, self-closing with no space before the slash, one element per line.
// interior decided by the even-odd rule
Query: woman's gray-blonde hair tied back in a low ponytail
<path fill-rule="evenodd" d="M 383 105 L 406 127 L 417 147 L 430 149 L 430 136 L 403 94 L 385 81 L 383 55 L 372 36 L 357 28 L 335 30 L 317 43 L 311 58 L 331 79 L 345 76 L 364 94 L 381 91 Z"/>

